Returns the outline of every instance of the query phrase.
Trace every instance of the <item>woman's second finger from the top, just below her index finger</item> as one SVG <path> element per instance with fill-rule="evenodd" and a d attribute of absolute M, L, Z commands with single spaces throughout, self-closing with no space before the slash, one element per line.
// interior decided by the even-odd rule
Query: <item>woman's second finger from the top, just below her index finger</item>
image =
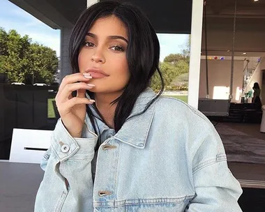
<path fill-rule="evenodd" d="M 72 95 L 73 91 L 78 91 L 79 89 L 88 90 L 93 88 L 93 84 L 86 84 L 84 82 L 78 82 L 73 84 L 66 84 L 64 89 L 59 94 L 57 100 L 61 103 L 66 102 L 69 99 L 69 96 Z M 58 94 L 57 94 L 58 95 Z"/>

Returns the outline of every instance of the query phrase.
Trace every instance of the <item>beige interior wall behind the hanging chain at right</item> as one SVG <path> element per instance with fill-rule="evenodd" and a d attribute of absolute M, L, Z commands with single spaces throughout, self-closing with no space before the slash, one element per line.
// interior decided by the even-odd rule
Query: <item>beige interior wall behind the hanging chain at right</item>
<path fill-rule="evenodd" d="M 243 60 L 234 61 L 233 99 L 236 100 L 236 87 L 242 87 Z M 208 60 L 209 97 L 213 98 L 214 86 L 230 86 L 231 60 Z M 199 76 L 199 98 L 206 98 L 206 60 L 201 60 Z"/>

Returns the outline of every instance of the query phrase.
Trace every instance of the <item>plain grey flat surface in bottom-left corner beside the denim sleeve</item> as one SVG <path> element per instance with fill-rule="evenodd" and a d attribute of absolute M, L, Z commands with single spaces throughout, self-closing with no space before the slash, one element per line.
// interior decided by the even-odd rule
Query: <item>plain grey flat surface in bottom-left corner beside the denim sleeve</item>
<path fill-rule="evenodd" d="M 33 211 L 43 174 L 38 164 L 0 162 L 0 211 Z"/>

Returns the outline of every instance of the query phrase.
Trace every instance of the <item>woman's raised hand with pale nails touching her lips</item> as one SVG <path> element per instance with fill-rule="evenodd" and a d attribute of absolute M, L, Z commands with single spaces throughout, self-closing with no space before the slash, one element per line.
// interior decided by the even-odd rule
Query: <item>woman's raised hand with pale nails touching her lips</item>
<path fill-rule="evenodd" d="M 63 78 L 55 97 L 61 121 L 63 121 L 63 125 L 72 137 L 81 137 L 86 117 L 86 104 L 95 102 L 85 96 L 86 90 L 95 86 L 94 84 L 88 84 L 91 78 L 88 73 L 67 75 Z M 72 96 L 73 91 L 77 91 L 76 97 Z"/>

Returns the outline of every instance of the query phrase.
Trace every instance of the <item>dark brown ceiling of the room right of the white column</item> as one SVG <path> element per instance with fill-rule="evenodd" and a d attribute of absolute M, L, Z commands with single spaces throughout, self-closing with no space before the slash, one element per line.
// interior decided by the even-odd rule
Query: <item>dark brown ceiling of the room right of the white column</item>
<path fill-rule="evenodd" d="M 232 52 L 234 0 L 206 0 L 206 33 L 209 55 L 229 56 Z M 237 0 L 235 55 L 244 52 L 264 56 L 265 0 Z M 205 54 L 205 25 L 203 21 L 202 54 Z"/>

